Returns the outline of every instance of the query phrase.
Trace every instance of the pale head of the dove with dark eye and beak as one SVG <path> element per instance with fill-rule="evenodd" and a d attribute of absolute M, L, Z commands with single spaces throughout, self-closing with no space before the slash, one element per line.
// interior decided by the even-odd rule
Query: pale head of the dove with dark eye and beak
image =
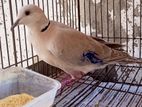
<path fill-rule="evenodd" d="M 17 20 L 11 27 L 13 30 L 17 25 L 23 24 L 27 26 L 34 25 L 41 21 L 46 21 L 47 18 L 43 11 L 36 5 L 26 5 L 23 6 L 17 16 Z M 43 22 L 44 23 L 44 22 Z"/>

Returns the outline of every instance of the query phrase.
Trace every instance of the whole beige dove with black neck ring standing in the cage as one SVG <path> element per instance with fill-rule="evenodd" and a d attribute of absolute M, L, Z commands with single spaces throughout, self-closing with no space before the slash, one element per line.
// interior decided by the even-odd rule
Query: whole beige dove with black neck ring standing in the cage
<path fill-rule="evenodd" d="M 27 26 L 27 38 L 39 57 L 70 75 L 63 83 L 81 78 L 108 64 L 142 62 L 121 50 L 119 44 L 105 42 L 63 23 L 49 20 L 36 5 L 23 6 L 11 30 L 21 24 Z"/>

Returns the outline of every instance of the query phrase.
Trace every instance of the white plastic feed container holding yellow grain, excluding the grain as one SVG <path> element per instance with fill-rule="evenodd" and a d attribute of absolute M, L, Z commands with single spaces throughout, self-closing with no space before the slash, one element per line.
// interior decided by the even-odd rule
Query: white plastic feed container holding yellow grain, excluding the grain
<path fill-rule="evenodd" d="M 0 99 L 20 93 L 35 97 L 24 107 L 51 107 L 61 87 L 57 80 L 31 70 L 14 67 L 1 71 Z"/>

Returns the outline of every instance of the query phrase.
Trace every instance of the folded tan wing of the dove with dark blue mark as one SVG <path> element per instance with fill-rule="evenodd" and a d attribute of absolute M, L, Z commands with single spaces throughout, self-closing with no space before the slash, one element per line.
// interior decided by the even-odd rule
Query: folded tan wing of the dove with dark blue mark
<path fill-rule="evenodd" d="M 48 49 L 58 59 L 73 65 L 104 62 L 112 49 L 85 34 L 65 27 L 55 27 Z"/>

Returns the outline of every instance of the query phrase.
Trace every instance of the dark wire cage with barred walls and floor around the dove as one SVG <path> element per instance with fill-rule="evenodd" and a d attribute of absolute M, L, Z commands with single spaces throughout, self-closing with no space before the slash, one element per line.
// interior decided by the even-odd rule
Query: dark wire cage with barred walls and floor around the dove
<path fill-rule="evenodd" d="M 141 0 L 1 0 L 0 68 L 21 66 L 61 80 L 64 73 L 43 62 L 27 42 L 27 29 L 10 31 L 23 5 L 36 4 L 50 20 L 87 35 L 120 43 L 131 56 L 142 57 Z M 93 79 L 92 79 L 93 77 Z M 66 87 L 56 107 L 142 107 L 142 67 L 109 65 Z"/>

